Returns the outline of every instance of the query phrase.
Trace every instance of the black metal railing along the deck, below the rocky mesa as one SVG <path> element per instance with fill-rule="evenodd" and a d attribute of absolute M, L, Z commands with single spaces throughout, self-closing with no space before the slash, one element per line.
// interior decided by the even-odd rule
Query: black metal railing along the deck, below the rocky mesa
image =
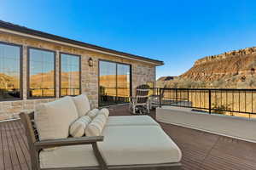
<path fill-rule="evenodd" d="M 206 113 L 256 117 L 256 89 L 154 88 L 160 106 L 188 107 Z"/>

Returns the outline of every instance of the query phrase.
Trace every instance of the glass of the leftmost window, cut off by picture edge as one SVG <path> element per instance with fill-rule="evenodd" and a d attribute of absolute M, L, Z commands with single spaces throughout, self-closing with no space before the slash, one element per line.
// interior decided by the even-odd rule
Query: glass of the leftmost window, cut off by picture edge
<path fill-rule="evenodd" d="M 21 47 L 0 42 L 0 101 L 21 99 Z"/>

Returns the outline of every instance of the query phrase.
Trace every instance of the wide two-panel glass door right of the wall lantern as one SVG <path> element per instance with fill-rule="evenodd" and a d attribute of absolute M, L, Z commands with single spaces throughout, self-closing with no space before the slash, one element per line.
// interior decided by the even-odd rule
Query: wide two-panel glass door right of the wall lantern
<path fill-rule="evenodd" d="M 99 104 L 102 106 L 128 102 L 131 95 L 131 65 L 103 60 L 99 65 Z"/>

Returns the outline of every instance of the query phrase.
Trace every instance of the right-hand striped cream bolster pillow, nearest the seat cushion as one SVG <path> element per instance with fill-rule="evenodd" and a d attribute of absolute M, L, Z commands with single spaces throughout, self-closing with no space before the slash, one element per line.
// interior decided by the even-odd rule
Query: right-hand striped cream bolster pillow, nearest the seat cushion
<path fill-rule="evenodd" d="M 107 122 L 107 117 L 104 115 L 96 116 L 90 124 L 85 128 L 86 136 L 100 136 L 102 135 L 102 130 Z"/>

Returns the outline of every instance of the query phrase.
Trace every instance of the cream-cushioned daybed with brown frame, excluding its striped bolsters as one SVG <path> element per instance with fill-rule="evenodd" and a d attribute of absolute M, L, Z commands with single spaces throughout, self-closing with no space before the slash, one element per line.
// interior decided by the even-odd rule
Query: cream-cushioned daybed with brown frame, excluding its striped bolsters
<path fill-rule="evenodd" d="M 64 97 L 20 113 L 32 169 L 180 169 L 181 151 L 150 116 L 109 116 L 100 136 L 71 138 L 78 103 Z"/>

